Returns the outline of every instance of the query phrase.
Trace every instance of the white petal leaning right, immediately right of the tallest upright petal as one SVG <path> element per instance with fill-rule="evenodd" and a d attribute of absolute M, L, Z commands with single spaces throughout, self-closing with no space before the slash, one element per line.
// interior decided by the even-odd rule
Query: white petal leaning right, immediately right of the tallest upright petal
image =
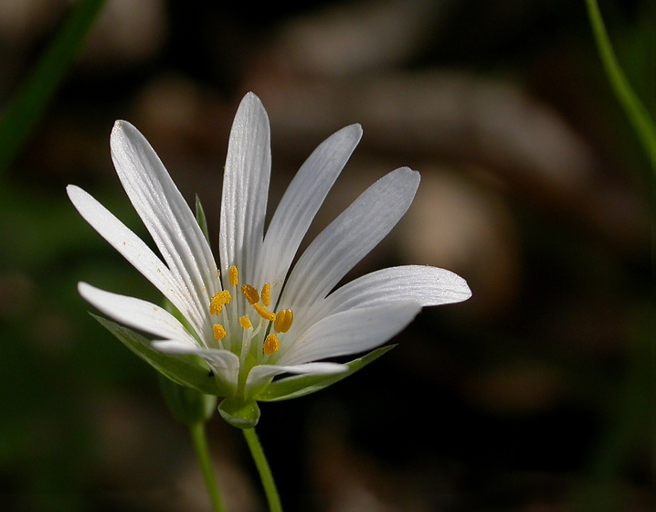
<path fill-rule="evenodd" d="M 291 180 L 267 229 L 259 255 L 258 288 L 271 283 L 271 300 L 276 303 L 296 251 L 323 199 L 333 187 L 344 165 L 362 137 L 359 124 L 346 126 L 319 145 Z"/>

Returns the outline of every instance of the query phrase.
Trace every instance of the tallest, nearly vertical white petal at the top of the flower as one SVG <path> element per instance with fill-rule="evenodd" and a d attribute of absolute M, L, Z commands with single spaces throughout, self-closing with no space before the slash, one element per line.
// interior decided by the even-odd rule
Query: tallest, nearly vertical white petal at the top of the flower
<path fill-rule="evenodd" d="M 255 256 L 264 236 L 271 172 L 269 117 L 249 92 L 239 104 L 227 144 L 223 177 L 219 256 L 224 283 L 227 268 L 237 265 L 243 282 L 254 276 Z"/>

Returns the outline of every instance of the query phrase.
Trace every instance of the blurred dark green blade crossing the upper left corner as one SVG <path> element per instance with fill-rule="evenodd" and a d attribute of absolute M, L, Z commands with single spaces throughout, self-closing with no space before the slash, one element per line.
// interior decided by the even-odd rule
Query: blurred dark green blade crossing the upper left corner
<path fill-rule="evenodd" d="M 79 0 L 0 120 L 0 176 L 32 131 L 84 45 L 105 0 Z"/>

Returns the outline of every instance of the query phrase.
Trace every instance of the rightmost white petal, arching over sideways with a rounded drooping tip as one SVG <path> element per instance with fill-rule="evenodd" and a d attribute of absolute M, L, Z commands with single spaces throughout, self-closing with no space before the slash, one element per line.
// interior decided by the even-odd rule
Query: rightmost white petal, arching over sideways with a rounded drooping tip
<path fill-rule="evenodd" d="M 458 274 L 437 267 L 407 265 L 371 272 L 344 284 L 325 298 L 313 316 L 395 301 L 428 306 L 460 303 L 470 297 L 470 287 Z"/>

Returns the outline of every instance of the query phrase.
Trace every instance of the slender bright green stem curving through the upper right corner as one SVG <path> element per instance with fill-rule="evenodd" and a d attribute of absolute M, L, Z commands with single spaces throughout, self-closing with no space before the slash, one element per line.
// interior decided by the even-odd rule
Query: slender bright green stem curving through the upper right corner
<path fill-rule="evenodd" d="M 606 32 L 604 20 L 599 12 L 597 0 L 586 0 L 586 4 L 592 31 L 597 40 L 599 55 L 606 69 L 610 85 L 613 91 L 615 91 L 615 95 L 621 103 L 622 108 L 629 116 L 630 123 L 638 134 L 640 143 L 647 153 L 647 157 L 651 160 L 652 170 L 656 172 L 656 126 L 651 120 L 649 112 L 647 112 L 647 109 L 640 101 L 640 98 L 631 89 L 629 80 L 627 80 L 624 72 L 619 67 L 618 59 L 608 40 L 608 33 Z"/>

